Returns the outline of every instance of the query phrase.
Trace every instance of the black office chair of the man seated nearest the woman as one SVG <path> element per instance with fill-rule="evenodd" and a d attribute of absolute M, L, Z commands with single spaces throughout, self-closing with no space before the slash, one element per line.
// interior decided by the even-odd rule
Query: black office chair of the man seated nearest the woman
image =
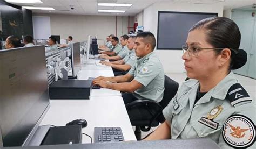
<path fill-rule="evenodd" d="M 134 133 L 137 140 L 141 140 L 141 131 L 149 131 L 151 127 L 156 127 L 165 121 L 162 111 L 176 95 L 179 83 L 165 75 L 164 87 L 164 97 L 159 103 L 143 99 L 125 105 L 132 126 L 136 126 Z"/>

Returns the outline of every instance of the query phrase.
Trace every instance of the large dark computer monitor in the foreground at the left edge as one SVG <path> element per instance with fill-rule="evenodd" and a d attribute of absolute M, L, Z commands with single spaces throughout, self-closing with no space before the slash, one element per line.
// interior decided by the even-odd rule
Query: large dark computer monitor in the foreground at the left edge
<path fill-rule="evenodd" d="M 44 46 L 0 51 L 0 148 L 24 146 L 49 104 Z"/>

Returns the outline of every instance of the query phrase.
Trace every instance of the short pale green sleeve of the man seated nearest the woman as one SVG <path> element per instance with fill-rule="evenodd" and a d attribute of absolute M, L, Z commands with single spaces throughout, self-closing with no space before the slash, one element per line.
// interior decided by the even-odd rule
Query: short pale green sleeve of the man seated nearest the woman
<path fill-rule="evenodd" d="M 147 62 L 145 65 L 138 70 L 138 74 L 134 80 L 143 84 L 144 87 L 147 86 L 160 72 L 158 66 L 153 62 Z"/>

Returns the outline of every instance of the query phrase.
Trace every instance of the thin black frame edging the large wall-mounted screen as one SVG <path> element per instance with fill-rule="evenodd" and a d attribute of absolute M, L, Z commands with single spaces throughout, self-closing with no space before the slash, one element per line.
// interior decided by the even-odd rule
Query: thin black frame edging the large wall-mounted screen
<path fill-rule="evenodd" d="M 204 15 L 219 15 L 217 12 L 182 12 L 182 11 L 158 11 L 158 18 L 157 18 L 157 50 L 182 50 L 182 48 L 159 48 L 158 47 L 158 40 L 159 40 L 159 16 L 160 13 L 179 13 L 179 14 L 204 14 Z M 191 26 L 192 27 L 192 26 Z"/>

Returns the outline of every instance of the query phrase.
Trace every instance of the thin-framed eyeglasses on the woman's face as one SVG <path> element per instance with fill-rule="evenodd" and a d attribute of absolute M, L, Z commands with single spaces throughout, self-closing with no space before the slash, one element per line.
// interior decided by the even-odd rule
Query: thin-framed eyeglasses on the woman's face
<path fill-rule="evenodd" d="M 183 53 L 187 51 L 189 56 L 198 56 L 198 52 L 203 49 L 224 49 L 224 48 L 200 48 L 200 47 L 188 47 L 187 45 L 182 46 Z M 232 51 L 234 51 L 235 54 L 238 53 L 238 51 L 233 48 L 228 48 L 228 49 L 231 49 Z"/>

